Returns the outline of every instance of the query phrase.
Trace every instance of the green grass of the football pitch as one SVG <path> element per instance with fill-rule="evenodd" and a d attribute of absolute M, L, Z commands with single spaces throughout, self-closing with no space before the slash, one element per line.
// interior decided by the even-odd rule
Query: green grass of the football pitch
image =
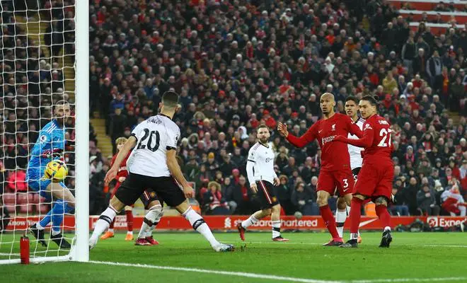
<path fill-rule="evenodd" d="M 133 242 L 125 242 L 125 234 L 120 233 L 115 238 L 99 241 L 91 250 L 91 260 L 338 281 L 406 279 L 404 282 L 411 282 L 423 278 L 451 282 L 440 278 L 462 277 L 458 282 L 467 282 L 466 233 L 393 233 L 394 241 L 389 249 L 378 248 L 381 233 L 363 233 L 364 243 L 358 249 L 321 246 L 329 240 L 328 233 L 283 233 L 290 239 L 289 243 L 273 243 L 270 233 L 247 233 L 246 242 L 241 242 L 237 233 L 215 235 L 219 241 L 233 243 L 236 251 L 215 253 L 197 233 L 154 233 L 161 243 L 159 246 L 134 246 Z M 7 238 L 4 235 L 3 241 Z M 14 248 L 16 253 L 17 247 L 18 244 Z M 3 245 L 0 253 L 9 250 Z M 283 282 L 81 262 L 0 265 L 0 275 L 1 282 L 35 283 Z"/>

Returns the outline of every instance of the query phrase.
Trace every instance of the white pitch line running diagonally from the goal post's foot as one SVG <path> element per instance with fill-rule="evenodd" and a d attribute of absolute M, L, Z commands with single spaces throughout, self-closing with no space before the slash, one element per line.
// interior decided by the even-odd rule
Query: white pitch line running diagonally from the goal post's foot
<path fill-rule="evenodd" d="M 249 277 L 249 278 L 258 278 L 258 279 L 270 279 L 270 280 L 282 280 L 289 282 L 305 282 L 305 283 L 342 283 L 342 281 L 328 281 L 328 280 L 318 280 L 318 279 L 306 279 L 299 277 L 284 277 L 276 275 L 264 275 L 256 274 L 249 272 L 232 272 L 232 271 L 222 271 L 222 270 L 202 270 L 199 268 L 190 268 L 190 267 L 172 267 L 172 266 L 161 266 L 161 265 L 139 265 L 135 263 L 124 263 L 124 262 L 105 262 L 105 261 L 89 261 L 90 263 L 97 263 L 100 265 L 116 265 L 116 266 L 127 266 L 127 267 L 143 267 L 143 268 L 152 268 L 156 270 L 175 270 L 175 271 L 188 271 L 188 272 L 198 272 L 198 273 L 209 273 L 216 275 L 231 275 L 238 277 Z"/>

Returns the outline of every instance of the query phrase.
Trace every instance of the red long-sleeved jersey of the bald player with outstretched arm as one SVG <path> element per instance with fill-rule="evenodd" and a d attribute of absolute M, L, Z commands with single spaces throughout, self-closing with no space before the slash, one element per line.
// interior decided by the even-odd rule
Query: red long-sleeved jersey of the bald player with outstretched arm
<path fill-rule="evenodd" d="M 350 170 L 350 156 L 347 144 L 331 142 L 338 135 L 347 137 L 349 133 L 362 137 L 362 131 L 352 121 L 352 118 L 335 113 L 329 119 L 318 120 L 301 137 L 289 134 L 287 140 L 294 146 L 304 147 L 314 139 L 318 139 L 321 147 L 321 170 Z"/>

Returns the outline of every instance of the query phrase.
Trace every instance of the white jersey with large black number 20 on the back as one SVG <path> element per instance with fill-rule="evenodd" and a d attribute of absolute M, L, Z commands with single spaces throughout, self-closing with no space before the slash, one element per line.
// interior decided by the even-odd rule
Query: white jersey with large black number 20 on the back
<path fill-rule="evenodd" d="M 166 115 L 156 115 L 141 122 L 132 131 L 137 138 L 127 161 L 130 173 L 149 177 L 168 177 L 167 150 L 176 149 L 180 128 Z"/>

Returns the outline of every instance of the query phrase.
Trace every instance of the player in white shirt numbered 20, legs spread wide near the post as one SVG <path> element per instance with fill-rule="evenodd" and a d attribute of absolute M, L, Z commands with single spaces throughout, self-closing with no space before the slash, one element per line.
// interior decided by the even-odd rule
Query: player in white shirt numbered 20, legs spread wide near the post
<path fill-rule="evenodd" d="M 201 233 L 217 252 L 232 251 L 232 245 L 219 243 L 200 214 L 197 214 L 188 202 L 194 191 L 183 176 L 175 157 L 180 128 L 172 121 L 178 104 L 178 94 L 167 91 L 159 104 L 161 113 L 149 117 L 132 131 L 123 148 L 118 152 L 115 163 L 105 175 L 105 181 L 115 178 L 120 164 L 128 152 L 133 149 L 127 162 L 128 177 L 123 181 L 110 205 L 100 214 L 89 239 L 89 248 L 96 246 L 98 238 L 110 226 L 113 219 L 125 205 L 134 204 L 146 188 L 151 188 L 169 206 L 175 207 L 185 217 L 193 229 Z M 183 189 L 180 189 L 180 184 Z M 152 221 L 154 222 L 154 221 Z"/>

